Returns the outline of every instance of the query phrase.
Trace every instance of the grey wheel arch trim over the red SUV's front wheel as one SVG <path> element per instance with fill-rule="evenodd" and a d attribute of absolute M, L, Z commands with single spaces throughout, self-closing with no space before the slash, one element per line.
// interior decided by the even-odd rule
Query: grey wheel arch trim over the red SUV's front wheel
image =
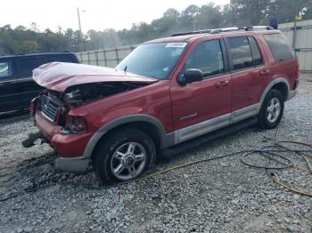
<path fill-rule="evenodd" d="M 166 133 L 164 126 L 160 123 L 160 121 L 151 115 L 145 114 L 134 114 L 128 116 L 121 116 L 117 119 L 112 120 L 110 123 L 103 125 L 94 135 L 91 137 L 90 141 L 86 144 L 86 149 L 83 157 L 91 157 L 92 152 L 98 141 L 103 137 L 103 135 L 109 132 L 111 129 L 119 126 L 128 124 L 131 122 L 147 122 L 154 125 L 157 129 L 157 133 L 160 136 L 160 147 L 167 148 L 169 145 L 174 144 L 174 134 Z"/>

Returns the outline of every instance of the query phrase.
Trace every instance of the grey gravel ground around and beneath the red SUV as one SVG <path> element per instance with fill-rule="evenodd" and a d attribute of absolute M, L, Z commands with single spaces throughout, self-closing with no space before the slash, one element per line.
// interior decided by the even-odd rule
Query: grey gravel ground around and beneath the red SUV
<path fill-rule="evenodd" d="M 312 143 L 312 82 L 307 79 L 302 76 L 300 94 L 286 103 L 279 140 Z M 21 141 L 35 131 L 25 114 L 0 115 L 0 197 L 50 180 L 97 185 L 93 173 L 56 172 L 56 155 L 47 145 L 23 149 Z M 156 170 L 259 149 L 274 137 L 275 130 L 250 127 L 160 162 Z M 302 158 L 288 156 L 307 169 Z M 312 192 L 311 173 L 275 173 L 287 184 Z M 119 188 L 57 184 L 40 189 L 0 203 L 0 232 L 312 232 L 311 206 L 312 197 L 284 190 L 263 170 L 228 157 Z"/>

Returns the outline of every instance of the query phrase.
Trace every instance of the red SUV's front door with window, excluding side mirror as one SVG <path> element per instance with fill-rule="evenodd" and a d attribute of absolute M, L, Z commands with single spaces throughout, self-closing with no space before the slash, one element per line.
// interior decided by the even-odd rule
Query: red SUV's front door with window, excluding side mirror
<path fill-rule="evenodd" d="M 229 125 L 231 118 L 232 80 L 223 39 L 192 44 L 181 63 L 170 85 L 177 143 Z M 178 84 L 177 76 L 183 76 L 188 68 L 201 69 L 203 80 Z"/>

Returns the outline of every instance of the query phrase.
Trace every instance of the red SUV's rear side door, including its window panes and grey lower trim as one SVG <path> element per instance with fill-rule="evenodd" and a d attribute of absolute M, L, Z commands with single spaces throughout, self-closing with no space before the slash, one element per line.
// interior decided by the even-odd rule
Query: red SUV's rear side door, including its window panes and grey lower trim
<path fill-rule="evenodd" d="M 225 36 L 233 81 L 232 123 L 254 116 L 259 110 L 269 70 L 254 36 Z"/>

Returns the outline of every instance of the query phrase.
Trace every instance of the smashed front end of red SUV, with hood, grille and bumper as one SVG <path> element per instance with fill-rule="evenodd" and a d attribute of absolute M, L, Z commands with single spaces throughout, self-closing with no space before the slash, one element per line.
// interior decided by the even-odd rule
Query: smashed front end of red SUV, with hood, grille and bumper
<path fill-rule="evenodd" d="M 49 143 L 59 154 L 55 167 L 75 173 L 86 172 L 91 163 L 84 152 L 94 135 L 93 122 L 87 122 L 84 106 L 99 100 L 96 108 L 101 108 L 100 100 L 158 82 L 111 68 L 70 63 L 45 64 L 33 73 L 35 82 L 45 87 L 30 103 L 39 132 L 30 134 L 22 145 L 29 148 L 37 140 Z"/>

